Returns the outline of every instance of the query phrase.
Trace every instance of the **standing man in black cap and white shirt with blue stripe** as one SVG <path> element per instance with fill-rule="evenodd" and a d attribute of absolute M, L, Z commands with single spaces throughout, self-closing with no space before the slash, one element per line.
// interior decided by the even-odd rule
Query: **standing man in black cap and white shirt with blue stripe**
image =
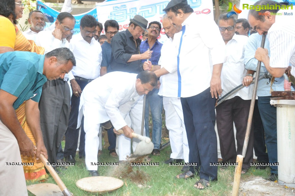
<path fill-rule="evenodd" d="M 198 164 L 176 177 L 190 178 L 199 173 L 200 180 L 194 187 L 204 189 L 210 181 L 217 180 L 217 166 L 210 163 L 217 163 L 214 105 L 221 94 L 225 44 L 213 18 L 194 14 L 186 0 L 172 0 L 163 11 L 173 24 L 181 27 L 181 32 L 174 34 L 175 54 L 171 54 L 171 61 L 163 63 L 155 73 L 160 76 L 178 72 L 178 97 L 189 143 L 189 162 Z"/>

